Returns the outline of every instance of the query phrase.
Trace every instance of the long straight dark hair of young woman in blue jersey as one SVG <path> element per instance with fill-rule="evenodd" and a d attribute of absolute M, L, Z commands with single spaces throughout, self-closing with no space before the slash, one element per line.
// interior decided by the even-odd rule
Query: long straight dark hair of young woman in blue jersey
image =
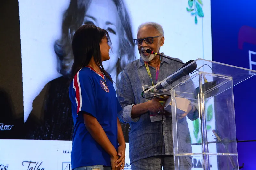
<path fill-rule="evenodd" d="M 108 32 L 104 29 L 91 24 L 85 24 L 76 30 L 72 40 L 72 51 L 74 56 L 74 62 L 71 68 L 72 79 L 81 68 L 89 64 L 93 56 L 96 65 L 112 82 L 111 77 L 104 70 L 101 61 L 100 43 L 104 37 L 108 38 L 109 45 L 111 46 Z"/>

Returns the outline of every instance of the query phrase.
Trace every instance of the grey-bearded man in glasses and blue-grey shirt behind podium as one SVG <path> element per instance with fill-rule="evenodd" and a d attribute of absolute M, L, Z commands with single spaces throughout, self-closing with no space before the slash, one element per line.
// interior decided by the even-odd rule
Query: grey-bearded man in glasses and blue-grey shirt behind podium
<path fill-rule="evenodd" d="M 140 25 L 134 42 L 138 45 L 140 59 L 125 67 L 117 90 L 118 100 L 123 108 L 119 113 L 119 119 L 131 126 L 129 133 L 131 167 L 132 170 L 160 170 L 162 167 L 164 170 L 174 169 L 172 119 L 166 116 L 168 113 L 163 110 L 159 102 L 164 99 L 145 99 L 141 96 L 141 92 L 143 85 L 155 85 L 178 70 L 182 64 L 146 53 L 147 49 L 159 53 L 160 47 L 164 44 L 163 28 L 157 23 L 148 22 Z M 152 95 L 144 94 L 144 96 Z M 180 141 L 187 141 L 182 144 L 181 149 L 184 153 L 192 152 L 186 116 L 191 120 L 198 118 L 197 106 L 194 105 L 191 104 L 187 114 L 179 117 L 182 120 L 179 121 L 182 128 L 178 131 L 182 131 L 183 134 L 179 135 L 179 138 Z M 152 116 L 159 113 L 163 116 Z M 191 157 L 179 158 L 182 169 L 191 169 L 191 164 Z"/>

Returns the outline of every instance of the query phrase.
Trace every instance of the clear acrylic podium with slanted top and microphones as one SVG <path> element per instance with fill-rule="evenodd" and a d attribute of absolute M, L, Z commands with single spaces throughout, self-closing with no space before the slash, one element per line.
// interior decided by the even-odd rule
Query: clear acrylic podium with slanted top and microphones
<path fill-rule="evenodd" d="M 196 70 L 187 76 L 180 77 L 160 91 L 156 90 L 160 83 L 195 65 Z M 143 85 L 143 89 L 149 88 L 144 93 L 171 96 L 175 170 L 239 169 L 233 86 L 255 74 L 254 70 L 196 59 L 153 87 Z M 182 117 L 186 110 L 182 112 L 178 108 L 183 103 L 178 98 L 189 100 L 196 106 L 196 111 Z"/>

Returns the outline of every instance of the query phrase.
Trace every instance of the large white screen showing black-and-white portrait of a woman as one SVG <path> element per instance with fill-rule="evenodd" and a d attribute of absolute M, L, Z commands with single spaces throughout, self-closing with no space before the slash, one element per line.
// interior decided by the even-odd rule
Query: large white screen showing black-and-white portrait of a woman
<path fill-rule="evenodd" d="M 147 21 L 163 26 L 165 42 L 160 52 L 183 62 L 197 58 L 212 60 L 210 1 L 71 2 L 77 5 L 70 5 L 70 0 L 19 0 L 22 61 L 20 88 L 23 89 L 21 100 L 24 104 L 24 125 L 20 126 L 19 137 L 16 138 L 20 140 L 1 140 L 4 146 L 1 147 L 1 153 L 4 153 L 4 157 L 0 156 L 1 164 L 9 165 L 9 169 L 33 167 L 71 170 L 73 120 L 67 90 L 72 65 L 70 42 L 74 33 L 73 25 L 93 23 L 109 32 L 113 48 L 111 59 L 104 63 L 104 67 L 117 83 L 125 65 L 139 58 L 137 46 L 132 39 L 136 38 L 137 27 Z M 86 5 L 85 14 L 81 12 L 83 5 Z M 114 25 L 108 25 L 108 22 Z M 118 70 L 117 65 L 121 65 L 122 69 Z M 212 102 L 209 101 L 207 107 L 214 113 Z M 199 142 L 200 138 L 194 131 L 199 127 L 195 127 L 189 120 L 188 124 L 192 142 Z M 7 125 L 15 127 L 15 124 Z M 209 122 L 209 125 L 215 128 L 214 121 Z M 130 169 L 129 126 L 122 124 L 122 128 L 127 142 L 125 169 Z M 208 135 L 213 140 L 212 134 Z M 194 152 L 200 150 L 196 146 L 192 149 Z M 216 152 L 216 145 L 210 150 Z M 216 161 L 217 158 L 212 159 L 212 170 L 216 169 Z M 202 160 L 193 159 L 193 170 L 202 169 L 200 162 Z"/>

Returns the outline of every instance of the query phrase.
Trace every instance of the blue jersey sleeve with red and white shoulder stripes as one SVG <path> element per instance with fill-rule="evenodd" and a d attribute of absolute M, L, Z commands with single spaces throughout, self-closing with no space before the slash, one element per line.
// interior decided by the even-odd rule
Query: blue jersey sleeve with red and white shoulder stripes
<path fill-rule="evenodd" d="M 78 71 L 73 79 L 75 100 L 77 104 L 77 115 L 86 112 L 96 117 L 96 95 L 92 77 L 82 71 Z"/>

